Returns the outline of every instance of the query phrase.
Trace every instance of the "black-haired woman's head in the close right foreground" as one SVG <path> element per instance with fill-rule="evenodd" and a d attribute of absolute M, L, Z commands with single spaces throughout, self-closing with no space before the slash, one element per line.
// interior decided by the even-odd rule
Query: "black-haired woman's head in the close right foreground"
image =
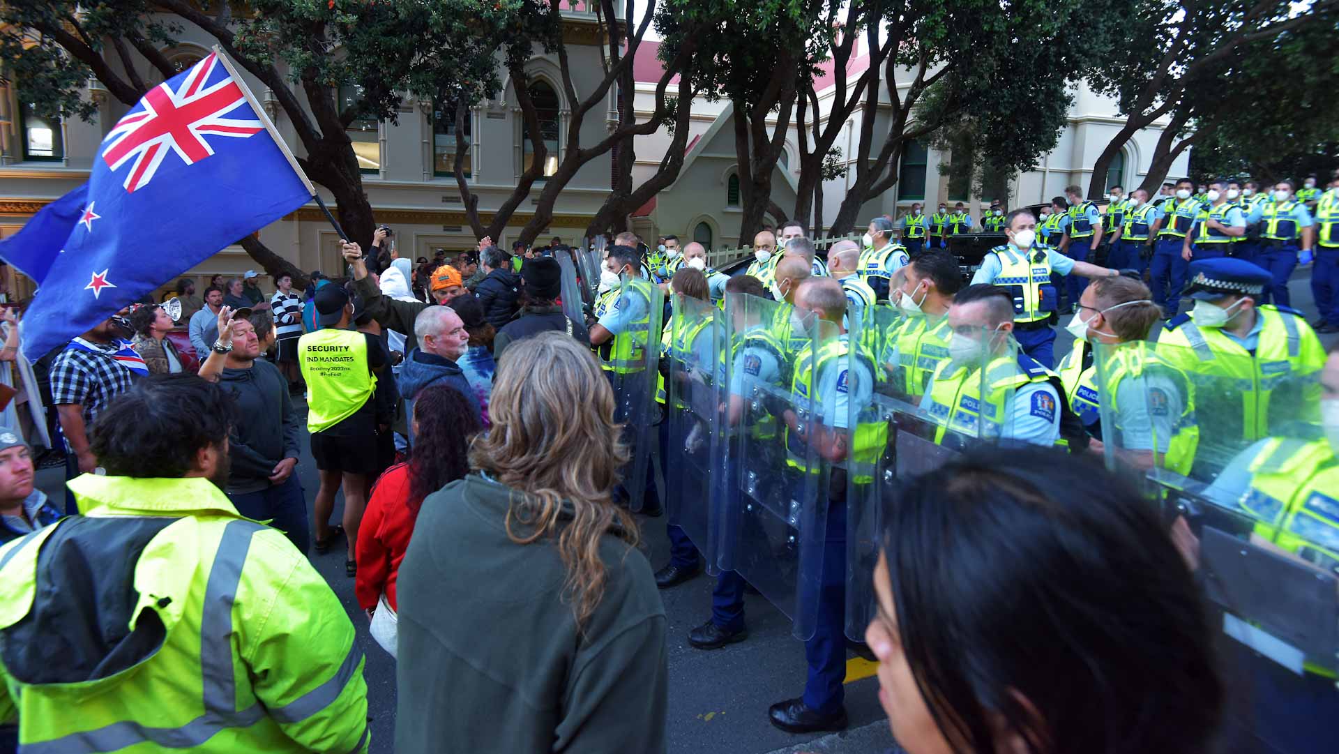
<path fill-rule="evenodd" d="M 1190 571 L 1156 509 L 1081 457 L 988 451 L 913 479 L 874 592 L 865 640 L 909 754 L 1196 754 L 1218 725 Z"/>

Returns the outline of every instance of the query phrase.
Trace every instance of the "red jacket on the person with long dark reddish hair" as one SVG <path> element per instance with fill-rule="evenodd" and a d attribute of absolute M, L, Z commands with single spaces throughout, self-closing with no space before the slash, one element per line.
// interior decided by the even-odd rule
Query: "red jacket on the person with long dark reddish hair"
<path fill-rule="evenodd" d="M 396 463 L 376 481 L 363 522 L 358 528 L 358 548 L 353 552 L 358 577 L 353 580 L 353 593 L 363 609 L 375 608 L 383 592 L 391 609 L 399 609 L 395 601 L 395 576 L 414 534 L 411 502 L 420 504 L 423 500 L 410 498 L 410 466 Z"/>

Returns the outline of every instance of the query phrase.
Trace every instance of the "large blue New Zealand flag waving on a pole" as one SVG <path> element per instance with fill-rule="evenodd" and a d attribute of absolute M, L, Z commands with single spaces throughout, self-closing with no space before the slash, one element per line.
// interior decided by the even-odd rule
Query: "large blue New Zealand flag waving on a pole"
<path fill-rule="evenodd" d="M 315 193 L 216 51 L 149 90 L 103 139 L 88 183 L 0 242 L 39 285 L 24 354 L 39 359 Z"/>

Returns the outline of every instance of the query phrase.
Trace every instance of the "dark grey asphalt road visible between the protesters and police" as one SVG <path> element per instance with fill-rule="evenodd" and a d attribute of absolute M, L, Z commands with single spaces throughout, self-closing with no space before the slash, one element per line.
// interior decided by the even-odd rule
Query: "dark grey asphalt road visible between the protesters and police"
<path fill-rule="evenodd" d="M 1314 319 L 1310 271 L 1297 271 L 1292 279 L 1292 305 Z M 1063 323 L 1062 323 L 1063 324 Z M 1073 339 L 1058 328 L 1056 358 L 1067 352 Z M 1339 335 L 1323 335 L 1327 347 Z M 297 467 L 307 493 L 308 512 L 316 494 L 316 466 L 303 433 L 303 457 Z M 43 469 L 37 485 L 63 501 L 64 467 Z M 336 500 L 332 522 L 337 522 L 343 498 Z M 637 517 L 643 548 L 652 568 L 668 562 L 670 544 L 664 518 Z M 344 575 L 344 548 L 337 545 L 327 554 L 311 556 L 312 565 L 339 596 L 358 628 L 358 640 L 367 656 L 368 719 L 372 729 L 372 753 L 394 751 L 395 739 L 395 660 L 368 635 L 367 617 L 353 597 L 353 580 Z M 885 754 L 901 753 L 878 704 L 873 664 L 854 655 L 848 662 L 846 712 L 850 726 L 840 734 L 791 735 L 771 726 L 767 707 L 774 702 L 798 696 L 805 684 L 803 643 L 790 635 L 783 615 L 763 597 L 749 595 L 746 616 L 750 636 L 746 642 L 722 650 L 702 651 L 688 646 L 688 631 L 711 616 L 710 576 L 699 576 L 674 589 L 661 592 L 668 617 L 670 704 L 668 750 L 671 754 Z M 467 694 L 467 690 L 462 690 Z M 462 703 L 469 703 L 462 696 Z"/>

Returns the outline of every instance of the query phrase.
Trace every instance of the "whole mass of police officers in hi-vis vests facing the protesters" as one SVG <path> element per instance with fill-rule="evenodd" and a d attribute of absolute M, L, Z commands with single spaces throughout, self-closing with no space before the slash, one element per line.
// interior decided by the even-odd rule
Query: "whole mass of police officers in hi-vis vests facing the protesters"
<path fill-rule="evenodd" d="M 735 277 L 672 237 L 651 258 L 615 245 L 603 261 L 578 260 L 586 280 L 603 265 L 592 343 L 632 423 L 635 510 L 657 513 L 659 447 L 672 554 L 657 584 L 674 587 L 703 565 L 716 575 L 711 619 L 688 642 L 744 640 L 753 587 L 791 620 L 809 664 L 803 695 L 773 704 L 771 722 L 795 733 L 844 727 L 846 637 L 858 642 L 868 623 L 873 537 L 900 479 L 976 443 L 1058 446 L 1146 475 L 1150 498 L 1172 512 L 1173 537 L 1190 542 L 1186 557 L 1239 587 L 1210 597 L 1247 651 L 1249 735 L 1280 751 L 1332 742 L 1320 722 L 1339 711 L 1339 358 L 1323 371 L 1312 327 L 1265 301 L 1279 299 L 1284 265 L 1272 262 L 1289 241 L 1310 250 L 1315 240 L 1318 262 L 1339 256 L 1339 175 L 1334 183 L 1316 197 L 1315 236 L 1291 197 L 1255 204 L 1247 222 L 1265 218 L 1260 238 L 1280 245 L 1236 240 L 1245 213 L 1224 209 L 1228 183 L 1210 183 L 1208 204 L 1164 200 L 1170 212 L 1161 214 L 1134 192 L 1105 220 L 1074 187 L 1070 206 L 1040 225 L 1027 212 L 1004 218 L 1008 242 L 991 249 L 967 288 L 953 256 L 911 253 L 908 242 L 923 236 L 908 228 L 928 225 L 904 222 L 897 242 L 884 217 L 870 221 L 864 249 L 840 242 L 826 265 L 798 225 L 781 229 L 782 254 L 759 233 L 755 261 Z M 1291 228 L 1287 217 L 1296 218 Z M 1118 264 L 1152 257 L 1165 272 L 1177 265 L 1158 258 L 1173 250 L 1184 262 L 1172 275 L 1189 279 L 1177 291 L 1194 309 L 1173 316 L 1156 342 L 1150 331 L 1178 296 L 1150 295 L 1137 269 L 1097 267 L 1047 244 L 1059 232 L 1069 249 L 1095 252 L 1106 228 Z M 1154 240 L 1150 254 L 1144 248 Z M 1241 248 L 1268 269 L 1216 244 L 1252 244 Z M 671 288 L 684 265 L 708 279 L 710 300 Z M 1095 281 L 1071 292 L 1066 328 L 1077 342 L 1058 370 L 1052 273 Z M 1224 532 L 1233 552 L 1253 556 L 1244 569 L 1225 561 Z M 1264 573 L 1320 589 L 1292 603 L 1243 591 Z M 1311 623 L 1299 628 L 1303 615 Z"/>

